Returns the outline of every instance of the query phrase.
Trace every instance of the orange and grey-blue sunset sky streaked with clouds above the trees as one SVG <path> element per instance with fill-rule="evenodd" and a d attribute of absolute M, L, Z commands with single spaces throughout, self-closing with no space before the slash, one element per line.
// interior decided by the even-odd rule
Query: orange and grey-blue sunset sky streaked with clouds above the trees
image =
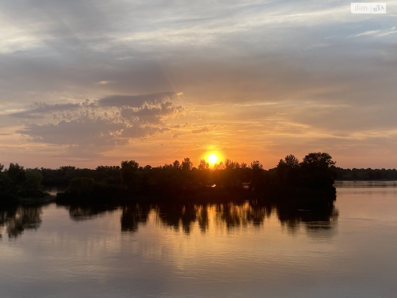
<path fill-rule="evenodd" d="M 397 1 L 0 2 L 0 163 L 397 168 Z"/>

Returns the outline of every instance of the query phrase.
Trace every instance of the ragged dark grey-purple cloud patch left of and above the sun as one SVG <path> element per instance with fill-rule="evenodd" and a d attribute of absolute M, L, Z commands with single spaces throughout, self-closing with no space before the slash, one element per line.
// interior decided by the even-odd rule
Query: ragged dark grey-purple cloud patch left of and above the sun
<path fill-rule="evenodd" d="M 57 123 L 29 124 L 25 128 L 17 130 L 17 133 L 31 137 L 31 141 L 56 145 L 71 145 L 68 151 L 76 153 L 79 148 L 82 152 L 88 152 L 90 146 L 117 146 L 126 145 L 129 139 L 146 139 L 170 132 L 164 127 L 168 118 L 175 118 L 188 109 L 182 106 L 173 106 L 169 101 L 161 102 L 164 98 L 170 98 L 175 93 L 163 92 L 157 94 L 139 95 L 127 98 L 127 101 L 116 101 L 112 107 L 116 109 L 103 111 L 102 106 L 94 103 L 79 104 L 46 104 L 36 103 L 30 110 L 13 113 L 13 117 L 46 118 L 48 114 L 62 112 L 69 115 L 68 121 Z M 108 97 L 111 100 L 112 97 Z M 123 99 L 123 100 L 124 100 Z M 133 99 L 131 101 L 131 99 Z M 126 104 L 125 104 L 126 103 Z M 148 106 L 147 104 L 155 104 Z M 117 108 L 119 106 L 135 106 L 134 108 Z M 71 111 L 81 108 L 79 113 L 70 114 Z M 56 119 L 56 116 L 53 115 Z M 143 125 L 150 124 L 150 125 Z M 178 127 L 186 127 L 177 124 Z M 159 127 L 160 126 L 160 127 Z M 98 149 L 95 150 L 98 153 Z M 100 150 L 99 150 L 100 151 Z"/>

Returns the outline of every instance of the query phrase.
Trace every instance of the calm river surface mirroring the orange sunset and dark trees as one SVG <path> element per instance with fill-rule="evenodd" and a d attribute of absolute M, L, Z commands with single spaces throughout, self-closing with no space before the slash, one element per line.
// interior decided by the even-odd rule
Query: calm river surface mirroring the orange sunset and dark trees
<path fill-rule="evenodd" d="M 3 210 L 0 297 L 396 297 L 397 183 L 334 205 Z"/>

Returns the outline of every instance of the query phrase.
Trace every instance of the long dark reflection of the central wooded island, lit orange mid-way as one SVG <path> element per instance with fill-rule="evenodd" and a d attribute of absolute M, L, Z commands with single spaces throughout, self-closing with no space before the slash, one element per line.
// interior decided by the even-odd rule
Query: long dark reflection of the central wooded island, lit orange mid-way
<path fill-rule="evenodd" d="M 71 219 L 75 221 L 96 218 L 100 213 L 114 211 L 117 206 L 90 205 L 67 206 Z M 325 202 L 315 205 L 301 205 L 297 203 L 270 203 L 245 201 L 235 203 L 195 204 L 169 202 L 158 205 L 145 203 L 132 203 L 122 207 L 121 231 L 137 232 L 140 225 L 149 221 L 152 213 L 154 220 L 162 226 L 172 228 L 175 231 L 182 230 L 189 234 L 195 223 L 200 232 L 206 232 L 210 226 L 210 219 L 214 224 L 225 226 L 227 230 L 237 227 L 262 226 L 265 219 L 276 215 L 282 226 L 289 232 L 297 231 L 303 223 L 310 233 L 330 230 L 334 227 L 338 213 L 333 202 Z"/>

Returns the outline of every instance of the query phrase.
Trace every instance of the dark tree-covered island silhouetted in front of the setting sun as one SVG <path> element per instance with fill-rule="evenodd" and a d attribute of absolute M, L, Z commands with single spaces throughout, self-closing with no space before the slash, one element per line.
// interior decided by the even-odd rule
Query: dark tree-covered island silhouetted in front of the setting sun
<path fill-rule="evenodd" d="M 250 165 L 230 159 L 215 164 L 214 169 L 202 159 L 197 167 L 186 157 L 181 162 L 163 166 L 144 167 L 134 160 L 122 161 L 121 166 L 98 166 L 84 176 L 73 175 L 76 168 L 61 168 L 60 179 L 67 181 L 68 190 L 58 199 L 97 200 L 99 197 L 132 197 L 161 195 L 165 199 L 176 196 L 218 196 L 220 193 L 257 195 L 333 195 L 335 162 L 328 153 L 314 152 L 300 162 L 295 156 L 281 159 L 276 168 L 264 170 L 259 161 Z M 47 170 L 42 170 L 46 180 Z M 54 172 L 51 172 L 54 173 Z M 87 175 L 90 173 L 91 175 Z M 73 177 L 74 176 L 74 177 Z M 54 176 L 50 175 L 51 178 Z"/>

